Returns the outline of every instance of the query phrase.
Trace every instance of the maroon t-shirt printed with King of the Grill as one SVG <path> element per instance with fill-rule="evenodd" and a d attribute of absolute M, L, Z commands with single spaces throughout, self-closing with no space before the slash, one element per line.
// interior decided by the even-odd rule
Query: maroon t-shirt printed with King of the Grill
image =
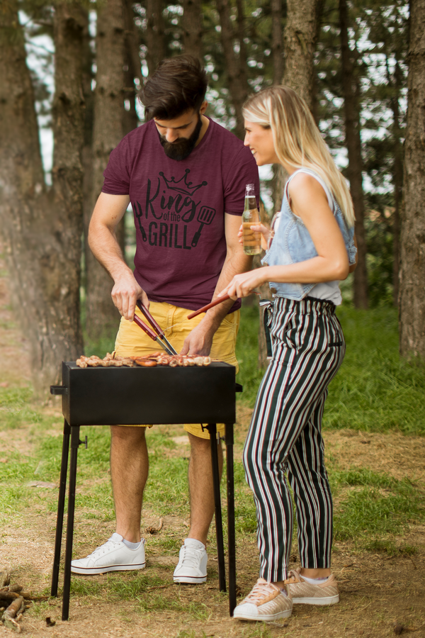
<path fill-rule="evenodd" d="M 104 176 L 103 193 L 130 195 L 135 278 L 148 298 L 191 310 L 210 303 L 226 257 L 225 212 L 242 215 L 246 184 L 259 196 L 249 148 L 210 120 L 198 146 L 177 161 L 165 155 L 151 120 L 121 140 Z"/>

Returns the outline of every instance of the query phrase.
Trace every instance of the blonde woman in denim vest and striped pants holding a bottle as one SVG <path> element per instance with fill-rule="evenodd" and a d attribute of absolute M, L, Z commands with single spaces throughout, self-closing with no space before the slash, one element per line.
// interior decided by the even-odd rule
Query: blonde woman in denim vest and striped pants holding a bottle
<path fill-rule="evenodd" d="M 263 268 L 238 274 L 222 294 L 248 295 L 268 281 L 273 357 L 261 382 L 244 448 L 254 491 L 259 581 L 234 610 L 241 620 L 276 620 L 293 603 L 339 601 L 331 574 L 332 500 L 321 434 L 329 382 L 344 358 L 335 307 L 339 281 L 356 267 L 353 204 L 305 101 L 273 86 L 244 106 L 245 145 L 256 163 L 289 174 Z M 242 231 L 239 231 L 242 235 Z M 288 481 L 285 476 L 287 474 Z M 293 489 L 300 569 L 288 571 Z"/>

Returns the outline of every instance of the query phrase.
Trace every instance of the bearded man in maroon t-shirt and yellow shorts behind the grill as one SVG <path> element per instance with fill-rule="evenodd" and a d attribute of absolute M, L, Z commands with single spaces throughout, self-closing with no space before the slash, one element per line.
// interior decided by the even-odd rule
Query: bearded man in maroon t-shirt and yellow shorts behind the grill
<path fill-rule="evenodd" d="M 187 320 L 191 310 L 210 303 L 235 274 L 251 267 L 237 233 L 246 184 L 255 184 L 259 195 L 258 170 L 249 149 L 205 116 L 206 89 L 206 74 L 196 58 L 163 60 L 141 91 L 146 123 L 121 140 L 104 173 L 89 244 L 114 281 L 112 298 L 122 315 L 115 352 L 123 357 L 157 349 L 133 322 L 140 300 L 177 352 L 210 355 L 237 366 L 240 301 L 225 301 Z M 129 203 L 137 240 L 134 272 L 115 238 Z M 140 519 L 149 465 L 146 427 L 111 427 L 116 532 L 85 559 L 72 561 L 73 572 L 145 567 Z M 191 443 L 191 527 L 174 581 L 204 583 L 214 514 L 210 435 L 200 424 L 183 427 Z M 217 430 L 224 435 L 224 425 Z M 221 471 L 221 445 L 219 459 Z"/>

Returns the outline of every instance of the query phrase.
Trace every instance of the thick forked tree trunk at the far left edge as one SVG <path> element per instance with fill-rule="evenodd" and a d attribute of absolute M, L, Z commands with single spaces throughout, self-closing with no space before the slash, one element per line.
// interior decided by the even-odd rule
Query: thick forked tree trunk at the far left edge
<path fill-rule="evenodd" d="M 0 47 L 0 172 L 7 184 L 0 194 L 0 225 L 12 298 L 30 341 L 34 386 L 42 392 L 60 378 L 62 360 L 76 359 L 82 352 L 84 11 L 76 3 L 55 5 L 55 155 L 50 191 L 44 183 L 17 2 L 3 7 L 0 21 L 6 33 Z"/>

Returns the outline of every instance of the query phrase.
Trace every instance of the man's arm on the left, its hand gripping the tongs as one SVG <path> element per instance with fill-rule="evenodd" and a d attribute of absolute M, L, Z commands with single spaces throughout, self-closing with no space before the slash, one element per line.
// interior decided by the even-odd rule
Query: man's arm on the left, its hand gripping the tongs
<path fill-rule="evenodd" d="M 129 203 L 128 195 L 100 194 L 89 226 L 89 246 L 114 281 L 111 293 L 113 303 L 125 319 L 132 321 L 137 299 L 147 308 L 149 301 L 125 263 L 115 235 L 115 228 L 123 218 Z"/>

